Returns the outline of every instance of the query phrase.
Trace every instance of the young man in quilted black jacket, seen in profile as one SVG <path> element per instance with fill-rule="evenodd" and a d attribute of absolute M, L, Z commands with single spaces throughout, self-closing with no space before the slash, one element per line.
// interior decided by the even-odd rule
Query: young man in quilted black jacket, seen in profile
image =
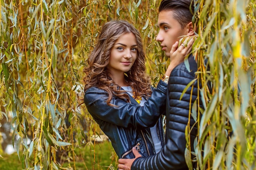
<path fill-rule="evenodd" d="M 167 57 L 170 57 L 172 45 L 180 40 L 181 36 L 194 35 L 191 11 L 194 11 L 191 0 L 162 0 L 159 6 L 159 33 L 156 40 L 161 43 Z M 186 45 L 183 46 L 186 48 Z M 134 149 L 135 159 L 119 159 L 119 170 L 188 170 L 184 156 L 185 129 L 187 124 L 190 124 L 193 150 L 197 129 L 196 126 L 193 127 L 195 121 L 190 117 L 190 110 L 191 104 L 199 99 L 197 81 L 193 83 L 193 88 L 190 86 L 182 96 L 184 88 L 195 79 L 195 71 L 198 69 L 192 55 L 188 61 L 190 71 L 183 62 L 173 69 L 169 77 L 166 98 L 166 145 L 159 153 L 147 158 L 141 157 Z"/>

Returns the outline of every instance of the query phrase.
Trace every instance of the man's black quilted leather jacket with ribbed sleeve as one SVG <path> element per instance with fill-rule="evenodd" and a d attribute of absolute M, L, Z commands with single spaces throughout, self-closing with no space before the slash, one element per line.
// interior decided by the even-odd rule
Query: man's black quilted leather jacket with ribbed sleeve
<path fill-rule="evenodd" d="M 185 129 L 189 121 L 191 86 L 180 99 L 184 88 L 195 79 L 198 66 L 193 56 L 189 57 L 190 71 L 184 63 L 176 66 L 171 72 L 166 99 L 166 145 L 156 155 L 139 157 L 132 163 L 131 170 L 188 170 L 184 153 L 186 148 Z M 193 83 L 192 104 L 198 98 L 198 81 Z M 192 106 L 191 106 L 192 107 Z M 191 149 L 197 134 L 194 119 L 190 119 Z"/>

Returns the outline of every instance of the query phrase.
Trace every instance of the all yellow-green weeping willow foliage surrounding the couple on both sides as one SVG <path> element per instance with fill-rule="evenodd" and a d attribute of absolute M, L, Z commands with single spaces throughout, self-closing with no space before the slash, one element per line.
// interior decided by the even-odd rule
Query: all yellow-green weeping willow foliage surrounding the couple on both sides
<path fill-rule="evenodd" d="M 74 149 L 95 147 L 90 137 L 100 130 L 81 100 L 82 70 L 105 22 L 122 19 L 135 25 L 144 41 L 148 74 L 153 84 L 158 82 L 168 63 L 155 41 L 159 3 L 0 1 L 0 118 L 11 124 L 24 169 L 76 169 Z M 196 160 L 202 170 L 254 169 L 255 0 L 198 0 L 195 6 L 194 53 L 204 108 L 194 117 L 198 137 L 187 164 Z M 60 150 L 67 167 L 58 161 Z M 92 163 L 100 165 L 92 152 Z"/>

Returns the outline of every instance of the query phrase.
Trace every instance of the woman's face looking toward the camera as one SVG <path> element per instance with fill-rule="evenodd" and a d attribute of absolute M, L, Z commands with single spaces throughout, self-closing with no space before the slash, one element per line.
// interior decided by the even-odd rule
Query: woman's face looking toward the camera
<path fill-rule="evenodd" d="M 112 75 L 130 70 L 137 58 L 137 42 L 133 33 L 126 33 L 115 42 L 110 53 L 108 68 Z"/>

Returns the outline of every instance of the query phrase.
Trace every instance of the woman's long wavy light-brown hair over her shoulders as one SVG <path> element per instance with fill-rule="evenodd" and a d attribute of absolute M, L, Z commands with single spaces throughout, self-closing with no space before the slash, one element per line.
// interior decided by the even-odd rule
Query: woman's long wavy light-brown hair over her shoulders
<path fill-rule="evenodd" d="M 84 91 L 93 86 L 103 89 L 108 92 L 106 102 L 110 106 L 112 105 L 110 101 L 113 95 L 130 102 L 128 95 L 121 91 L 120 86 L 112 80 L 111 73 L 107 67 L 115 42 L 126 33 L 135 35 L 138 46 L 137 58 L 130 71 L 125 73 L 126 81 L 132 87 L 135 96 L 148 98 L 152 94 L 150 77 L 146 76 L 145 53 L 139 31 L 129 22 L 112 20 L 103 25 L 98 42 L 87 60 L 88 66 L 83 70 L 85 73 L 83 78 L 85 83 Z"/>

